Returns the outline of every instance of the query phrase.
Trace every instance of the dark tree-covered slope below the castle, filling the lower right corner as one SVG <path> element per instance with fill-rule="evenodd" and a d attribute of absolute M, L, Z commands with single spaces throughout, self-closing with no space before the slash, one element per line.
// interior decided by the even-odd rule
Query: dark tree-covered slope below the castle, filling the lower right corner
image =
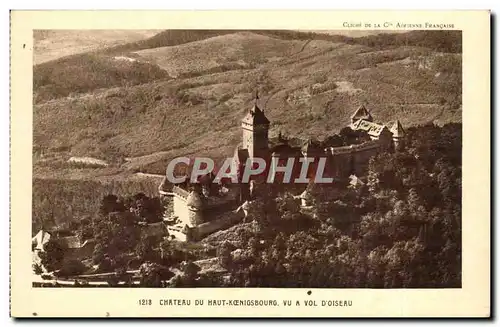
<path fill-rule="evenodd" d="M 231 276 L 212 285 L 461 287 L 461 128 L 409 129 L 405 151 L 370 161 L 366 185 L 335 199 L 314 189 L 312 215 L 291 195 L 257 200 L 254 221 L 203 241 Z"/>

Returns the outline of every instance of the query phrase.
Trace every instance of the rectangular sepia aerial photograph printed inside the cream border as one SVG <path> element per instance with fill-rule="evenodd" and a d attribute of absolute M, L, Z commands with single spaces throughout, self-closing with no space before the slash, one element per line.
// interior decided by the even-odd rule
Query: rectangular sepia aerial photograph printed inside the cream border
<path fill-rule="evenodd" d="M 38 29 L 32 65 L 33 287 L 462 287 L 462 31 Z"/>

